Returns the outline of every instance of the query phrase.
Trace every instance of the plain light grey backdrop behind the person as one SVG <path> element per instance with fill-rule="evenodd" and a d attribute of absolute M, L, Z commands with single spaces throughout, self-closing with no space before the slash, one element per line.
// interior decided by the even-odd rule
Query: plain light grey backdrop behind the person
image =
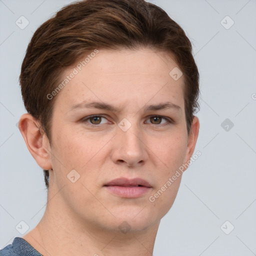
<path fill-rule="evenodd" d="M 42 170 L 16 127 L 25 112 L 18 75 L 32 33 L 70 2 L 0 0 L 0 248 L 22 236 L 15 229 L 21 220 L 30 230 L 45 209 Z M 153 255 L 256 255 L 256 1 L 152 2 L 192 41 L 201 89 L 201 156 L 183 174 Z M 29 21 L 24 29 L 15 24 L 21 15 Z M 228 131 L 226 118 L 234 124 Z M 226 220 L 225 232 L 234 226 L 229 234 L 220 228 Z"/>

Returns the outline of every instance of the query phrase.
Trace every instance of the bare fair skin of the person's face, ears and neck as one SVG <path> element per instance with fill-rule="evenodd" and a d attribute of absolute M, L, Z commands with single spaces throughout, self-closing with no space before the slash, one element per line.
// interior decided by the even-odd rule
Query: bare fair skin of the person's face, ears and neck
<path fill-rule="evenodd" d="M 184 79 L 169 75 L 175 66 L 170 54 L 145 48 L 99 50 L 55 96 L 51 143 L 37 120 L 21 116 L 19 129 L 30 153 L 41 168 L 52 169 L 45 213 L 23 236 L 41 254 L 152 255 L 160 219 L 173 204 L 181 175 L 154 202 L 148 198 L 190 159 L 199 130 L 194 117 L 187 134 Z M 70 110 L 91 101 L 118 111 Z M 167 101 L 180 108 L 143 111 Z M 101 122 L 85 118 L 97 114 L 103 115 Z M 123 118 L 131 124 L 127 131 L 118 127 Z M 72 169 L 80 175 L 74 183 L 66 177 Z M 137 198 L 122 198 L 104 187 L 117 177 L 140 177 L 151 188 Z M 118 228 L 123 221 L 130 227 L 125 233 Z"/>

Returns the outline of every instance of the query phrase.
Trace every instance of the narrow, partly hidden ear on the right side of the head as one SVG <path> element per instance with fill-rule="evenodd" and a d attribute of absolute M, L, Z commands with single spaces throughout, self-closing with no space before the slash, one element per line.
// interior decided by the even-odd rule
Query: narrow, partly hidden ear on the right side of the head
<path fill-rule="evenodd" d="M 186 148 L 186 156 L 185 156 L 186 163 L 190 160 L 192 156 L 192 153 L 194 151 L 194 147 L 197 141 L 198 133 L 199 133 L 199 119 L 197 116 L 194 116 L 191 123 L 190 131 L 188 134 L 188 139 L 187 139 L 187 148 Z"/>

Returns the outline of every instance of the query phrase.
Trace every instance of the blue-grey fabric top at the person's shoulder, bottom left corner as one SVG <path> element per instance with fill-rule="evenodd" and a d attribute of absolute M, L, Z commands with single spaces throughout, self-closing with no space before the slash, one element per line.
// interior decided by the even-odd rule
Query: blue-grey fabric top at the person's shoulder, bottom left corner
<path fill-rule="evenodd" d="M 23 238 L 15 237 L 12 244 L 0 250 L 0 256 L 42 256 L 42 254 Z"/>

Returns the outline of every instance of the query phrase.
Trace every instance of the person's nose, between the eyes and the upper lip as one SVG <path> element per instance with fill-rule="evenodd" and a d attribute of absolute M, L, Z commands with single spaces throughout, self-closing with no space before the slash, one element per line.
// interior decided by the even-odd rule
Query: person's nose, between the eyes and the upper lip
<path fill-rule="evenodd" d="M 113 137 L 111 158 L 116 164 L 134 167 L 146 162 L 147 147 L 137 125 L 132 124 L 126 131 L 117 127 L 116 135 Z"/>

